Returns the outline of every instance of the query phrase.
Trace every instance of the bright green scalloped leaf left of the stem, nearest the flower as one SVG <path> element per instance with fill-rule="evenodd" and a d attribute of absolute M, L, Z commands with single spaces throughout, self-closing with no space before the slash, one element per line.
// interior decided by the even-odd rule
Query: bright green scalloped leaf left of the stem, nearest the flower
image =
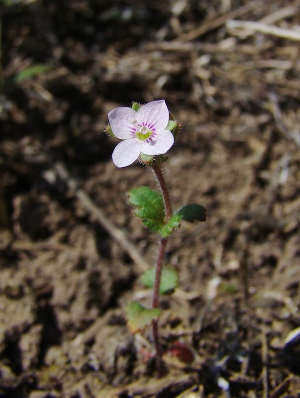
<path fill-rule="evenodd" d="M 128 192 L 128 201 L 136 206 L 135 215 L 143 220 L 152 220 L 159 228 L 164 223 L 165 207 L 162 195 L 148 187 L 133 188 Z"/>

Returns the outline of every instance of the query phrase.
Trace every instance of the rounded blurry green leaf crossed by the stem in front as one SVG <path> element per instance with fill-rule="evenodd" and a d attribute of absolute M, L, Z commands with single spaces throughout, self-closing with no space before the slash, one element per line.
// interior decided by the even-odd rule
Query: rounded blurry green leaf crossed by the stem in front
<path fill-rule="evenodd" d="M 153 288 L 155 281 L 155 268 L 147 270 L 141 277 L 141 281 L 146 288 Z M 159 286 L 161 295 L 168 295 L 174 292 L 178 285 L 177 272 L 173 267 L 164 267 Z"/>

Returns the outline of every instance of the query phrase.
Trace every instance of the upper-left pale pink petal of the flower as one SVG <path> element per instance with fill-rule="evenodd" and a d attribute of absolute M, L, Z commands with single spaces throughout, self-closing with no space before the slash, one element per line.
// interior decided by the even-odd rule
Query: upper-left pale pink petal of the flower
<path fill-rule="evenodd" d="M 121 140 L 134 136 L 133 125 L 130 122 L 133 119 L 136 119 L 136 111 L 126 106 L 121 106 L 108 112 L 111 130 Z"/>

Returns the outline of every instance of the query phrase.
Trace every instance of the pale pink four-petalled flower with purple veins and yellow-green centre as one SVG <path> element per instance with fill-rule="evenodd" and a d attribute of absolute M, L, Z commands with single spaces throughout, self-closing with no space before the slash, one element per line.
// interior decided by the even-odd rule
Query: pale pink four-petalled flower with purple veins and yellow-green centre
<path fill-rule="evenodd" d="M 156 156 L 166 153 L 174 143 L 167 130 L 169 110 L 165 100 L 142 105 L 137 111 L 118 107 L 108 113 L 111 131 L 121 141 L 112 153 L 117 167 L 129 166 L 140 154 Z"/>

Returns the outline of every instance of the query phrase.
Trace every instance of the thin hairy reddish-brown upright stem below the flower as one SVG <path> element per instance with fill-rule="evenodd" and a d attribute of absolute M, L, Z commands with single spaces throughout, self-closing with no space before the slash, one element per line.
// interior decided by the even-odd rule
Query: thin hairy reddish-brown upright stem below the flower
<path fill-rule="evenodd" d="M 159 186 L 160 186 L 163 198 L 164 198 L 166 218 L 168 221 L 172 217 L 173 211 L 172 211 L 169 191 L 168 191 L 168 188 L 166 185 L 166 181 L 165 181 L 165 178 L 164 178 L 164 175 L 162 172 L 161 162 L 159 161 L 159 159 L 157 159 L 157 162 L 155 162 L 152 167 L 153 167 L 153 171 L 155 173 L 155 176 L 157 178 L 157 181 L 159 183 Z M 155 282 L 154 282 L 154 287 L 153 287 L 152 308 L 159 307 L 159 287 L 160 287 L 160 280 L 161 280 L 161 275 L 162 275 L 162 269 L 163 269 L 166 248 L 167 248 L 167 242 L 168 242 L 167 238 L 161 238 L 161 240 L 160 240 L 159 251 L 158 251 L 157 262 L 156 262 Z M 163 376 L 163 363 L 162 363 L 162 348 L 161 348 L 161 344 L 159 341 L 159 331 L 158 331 L 158 321 L 157 320 L 154 320 L 152 322 L 152 333 L 153 333 L 154 345 L 155 345 L 155 349 L 156 349 L 157 373 L 158 373 L 158 377 L 160 378 Z"/>

